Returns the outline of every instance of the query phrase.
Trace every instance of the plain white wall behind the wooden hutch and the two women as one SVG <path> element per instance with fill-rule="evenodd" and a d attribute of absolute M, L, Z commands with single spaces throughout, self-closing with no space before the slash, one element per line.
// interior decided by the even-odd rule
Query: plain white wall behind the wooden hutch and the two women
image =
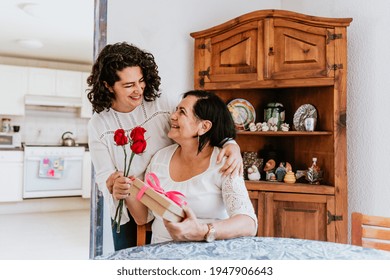
<path fill-rule="evenodd" d="M 165 0 L 108 3 L 108 43 L 128 41 L 153 53 L 163 93 L 193 88 L 189 33 L 259 9 L 285 9 L 324 17 L 352 17 L 348 29 L 349 212 L 390 216 L 390 2 L 377 0 Z M 390 63 L 389 63 L 390 64 Z"/>

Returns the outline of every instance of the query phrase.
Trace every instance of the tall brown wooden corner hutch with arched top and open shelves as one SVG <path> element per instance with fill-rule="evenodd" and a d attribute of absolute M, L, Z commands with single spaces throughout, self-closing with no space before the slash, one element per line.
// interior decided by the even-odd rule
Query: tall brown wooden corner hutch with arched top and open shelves
<path fill-rule="evenodd" d="M 196 89 L 225 102 L 248 100 L 256 122 L 270 102 L 285 108 L 290 130 L 240 130 L 242 152 L 273 147 L 293 171 L 313 157 L 324 171 L 320 185 L 299 181 L 246 181 L 258 214 L 259 236 L 347 242 L 346 77 L 351 18 L 323 18 L 282 10 L 254 11 L 191 33 Z M 316 130 L 297 131 L 294 113 L 315 106 Z"/>

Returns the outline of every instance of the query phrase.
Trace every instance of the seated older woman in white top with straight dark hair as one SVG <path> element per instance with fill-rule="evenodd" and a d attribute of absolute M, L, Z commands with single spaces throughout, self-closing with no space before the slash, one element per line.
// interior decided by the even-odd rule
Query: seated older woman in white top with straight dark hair
<path fill-rule="evenodd" d="M 171 114 L 168 137 L 176 142 L 158 151 L 147 169 L 168 190 L 186 197 L 186 218 L 179 223 L 154 217 L 152 243 L 175 241 L 213 241 L 253 236 L 257 218 L 242 177 L 223 176 L 217 163 L 220 143 L 234 138 L 235 129 L 224 102 L 206 91 L 189 91 Z M 114 190 L 117 199 L 125 198 L 138 224 L 154 215 L 128 190 Z"/>

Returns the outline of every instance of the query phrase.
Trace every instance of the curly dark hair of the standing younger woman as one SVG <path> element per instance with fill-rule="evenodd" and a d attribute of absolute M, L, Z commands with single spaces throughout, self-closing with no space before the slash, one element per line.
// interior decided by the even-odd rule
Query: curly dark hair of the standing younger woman
<path fill-rule="evenodd" d="M 158 67 L 151 53 L 143 51 L 132 44 L 126 42 L 106 45 L 99 53 L 92 72 L 87 78 L 89 89 L 87 97 L 92 103 L 93 111 L 100 113 L 109 110 L 115 95 L 105 86 L 113 86 L 119 81 L 117 71 L 122 71 L 126 67 L 139 66 L 145 80 L 144 100 L 154 101 L 160 97 L 159 87 L 161 78 L 158 75 Z"/>

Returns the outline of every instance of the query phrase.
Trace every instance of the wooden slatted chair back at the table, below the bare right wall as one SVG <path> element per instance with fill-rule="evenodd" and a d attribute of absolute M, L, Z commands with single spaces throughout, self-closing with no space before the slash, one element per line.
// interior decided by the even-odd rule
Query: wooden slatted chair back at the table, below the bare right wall
<path fill-rule="evenodd" d="M 390 218 L 352 213 L 352 245 L 390 251 Z"/>

